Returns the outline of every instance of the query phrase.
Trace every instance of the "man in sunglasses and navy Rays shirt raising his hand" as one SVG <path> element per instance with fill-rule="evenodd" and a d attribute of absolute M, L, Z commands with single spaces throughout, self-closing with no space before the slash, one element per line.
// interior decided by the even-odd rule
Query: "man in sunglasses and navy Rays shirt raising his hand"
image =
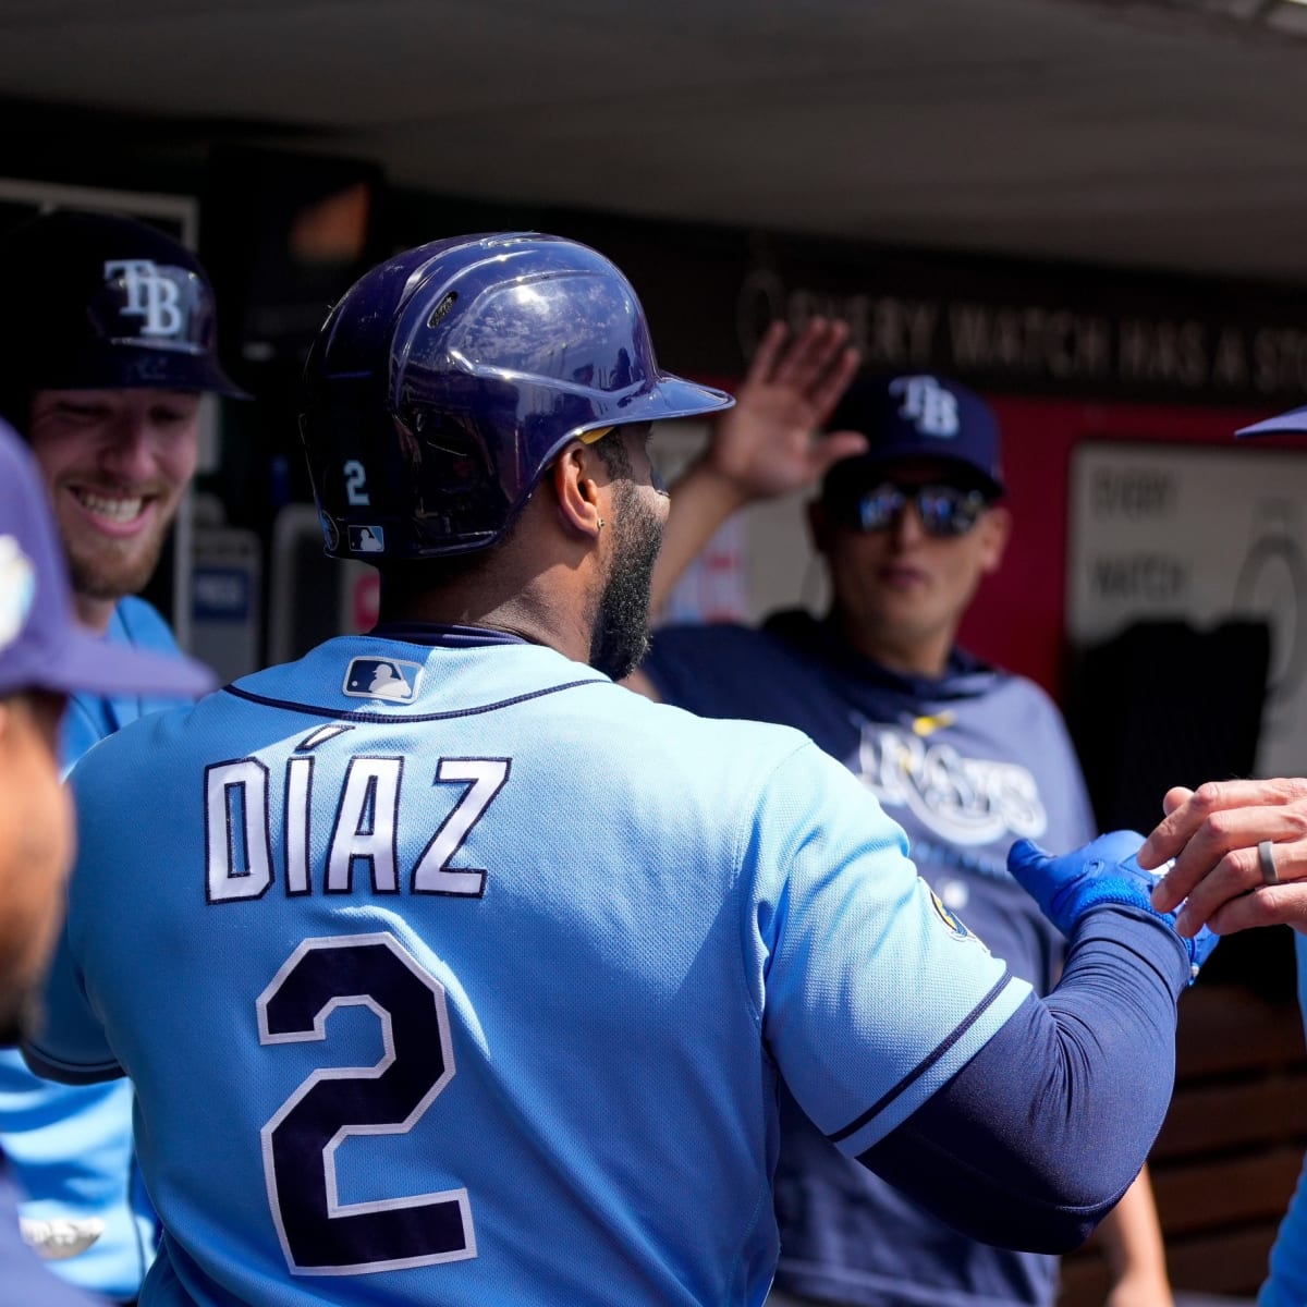
<path fill-rule="evenodd" d="M 762 383 L 750 374 L 738 396 L 742 413 Z M 741 425 L 729 439 L 744 439 Z M 955 644 L 1010 531 L 993 413 L 944 378 L 860 378 L 827 426 L 823 440 L 847 446 L 856 433 L 865 443 L 829 467 L 808 508 L 830 586 L 827 613 L 782 612 L 759 630 L 663 627 L 627 684 L 704 716 L 804 731 L 904 827 L 942 906 L 1047 992 L 1064 942 L 1008 874 L 1006 853 L 1018 838 L 1076 847 L 1094 835 L 1094 822 L 1048 697 Z M 740 448 L 710 451 L 687 473 L 673 490 L 665 555 L 684 557 L 685 533 L 706 538 L 732 506 L 761 495 L 757 476 L 728 469 L 757 468 L 765 439 L 755 435 L 752 457 Z M 677 520 L 678 501 L 694 505 L 693 523 Z M 661 586 L 670 580 L 664 575 Z M 975 1243 L 942 1226 L 850 1166 L 788 1094 L 775 1193 L 782 1256 L 772 1307 L 1048 1307 L 1056 1298 L 1056 1259 Z M 1168 1303 L 1146 1178 L 1103 1231 L 1112 1307 Z"/>

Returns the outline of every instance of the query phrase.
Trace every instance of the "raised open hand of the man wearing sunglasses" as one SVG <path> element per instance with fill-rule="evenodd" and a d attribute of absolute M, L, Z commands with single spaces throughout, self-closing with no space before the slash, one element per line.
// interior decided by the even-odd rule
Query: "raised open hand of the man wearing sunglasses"
<path fill-rule="evenodd" d="M 857 371 L 848 324 L 813 318 L 787 344 L 788 336 L 783 322 L 767 328 L 707 454 L 741 503 L 802 490 L 867 448 L 857 431 L 818 434 Z"/>

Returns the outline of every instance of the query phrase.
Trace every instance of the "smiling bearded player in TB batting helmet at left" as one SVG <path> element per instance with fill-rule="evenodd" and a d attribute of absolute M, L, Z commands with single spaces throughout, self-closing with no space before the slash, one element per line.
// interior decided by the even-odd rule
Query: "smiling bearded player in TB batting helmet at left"
<path fill-rule="evenodd" d="M 199 457 L 203 392 L 238 395 L 214 354 L 213 291 L 170 237 L 111 214 L 55 212 L 0 240 L 0 416 L 27 438 L 54 508 L 78 618 L 108 647 L 178 656 L 150 579 Z M 175 697 L 71 697 L 61 757 Z M 140 817 L 140 814 L 137 814 Z M 131 1086 L 42 1081 L 0 1052 L 0 1142 L 27 1236 L 68 1280 L 136 1298 L 156 1219 L 135 1171 Z"/>

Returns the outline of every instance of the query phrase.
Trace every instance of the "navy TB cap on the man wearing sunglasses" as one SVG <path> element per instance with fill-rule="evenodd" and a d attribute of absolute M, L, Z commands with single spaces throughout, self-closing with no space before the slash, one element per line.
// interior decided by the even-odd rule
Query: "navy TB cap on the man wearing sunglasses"
<path fill-rule="evenodd" d="M 965 386 L 929 374 L 859 378 L 844 392 L 831 431 L 860 431 L 868 450 L 836 463 L 822 481 L 822 498 L 853 482 L 874 482 L 886 463 L 931 459 L 958 472 L 992 498 L 1002 495 L 1001 444 L 993 412 Z"/>

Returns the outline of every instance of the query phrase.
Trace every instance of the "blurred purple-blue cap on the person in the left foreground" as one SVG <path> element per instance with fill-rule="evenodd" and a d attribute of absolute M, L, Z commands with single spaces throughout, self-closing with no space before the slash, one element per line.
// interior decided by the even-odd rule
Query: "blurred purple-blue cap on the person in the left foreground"
<path fill-rule="evenodd" d="M 213 685 L 200 663 L 111 644 L 77 623 L 37 464 L 0 422 L 0 698 L 26 690 L 191 698 Z"/>

